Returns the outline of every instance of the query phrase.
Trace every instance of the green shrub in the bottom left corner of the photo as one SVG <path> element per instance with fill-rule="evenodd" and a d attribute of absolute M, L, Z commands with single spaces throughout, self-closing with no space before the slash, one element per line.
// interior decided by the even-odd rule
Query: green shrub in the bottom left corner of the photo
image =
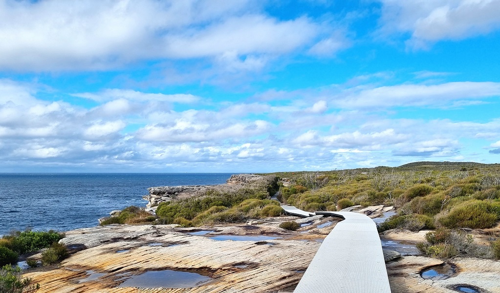
<path fill-rule="evenodd" d="M 1 293 L 34 293 L 40 288 L 31 278 L 22 278 L 19 267 L 5 265 L 0 269 Z"/>

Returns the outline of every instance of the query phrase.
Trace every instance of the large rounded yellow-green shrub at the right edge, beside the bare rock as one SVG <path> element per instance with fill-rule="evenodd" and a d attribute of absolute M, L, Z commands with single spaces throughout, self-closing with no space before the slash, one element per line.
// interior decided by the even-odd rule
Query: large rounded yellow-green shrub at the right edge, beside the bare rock
<path fill-rule="evenodd" d="M 452 207 L 437 220 L 447 228 L 491 228 L 498 219 L 495 209 L 496 205 L 488 202 L 470 200 Z"/>

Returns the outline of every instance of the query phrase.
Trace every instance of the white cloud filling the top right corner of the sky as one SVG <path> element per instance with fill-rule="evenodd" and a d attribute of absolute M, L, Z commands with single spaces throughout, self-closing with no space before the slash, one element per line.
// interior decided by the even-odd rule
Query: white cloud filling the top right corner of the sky
<path fill-rule="evenodd" d="M 498 0 L 381 0 L 381 31 L 409 32 L 407 45 L 426 48 L 433 42 L 487 34 L 500 28 Z"/>

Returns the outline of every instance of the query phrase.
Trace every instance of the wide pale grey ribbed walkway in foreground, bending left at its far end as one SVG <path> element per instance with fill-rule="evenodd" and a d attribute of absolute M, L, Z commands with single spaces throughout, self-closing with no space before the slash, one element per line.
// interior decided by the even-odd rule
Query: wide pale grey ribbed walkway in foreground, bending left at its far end
<path fill-rule="evenodd" d="M 353 212 L 316 212 L 344 218 L 326 236 L 293 293 L 390 293 L 375 223 Z"/>

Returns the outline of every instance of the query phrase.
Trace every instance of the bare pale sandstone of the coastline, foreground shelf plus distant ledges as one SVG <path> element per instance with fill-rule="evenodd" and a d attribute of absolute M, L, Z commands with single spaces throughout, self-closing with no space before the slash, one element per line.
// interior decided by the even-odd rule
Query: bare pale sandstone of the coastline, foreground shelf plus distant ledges
<path fill-rule="evenodd" d="M 226 184 L 243 185 L 258 178 L 252 174 L 232 175 Z M 205 188 L 210 186 L 151 187 L 143 199 L 154 210 L 161 202 L 190 196 Z M 381 220 L 393 213 L 392 207 L 383 205 L 352 206 L 345 210 Z M 285 221 L 295 221 L 300 228 L 279 228 Z M 38 293 L 292 293 L 322 239 L 338 221 L 339 218 L 320 215 L 280 216 L 191 228 L 113 224 L 77 229 L 66 232 L 60 241 L 71 251 L 69 258 L 57 266 L 29 269 L 24 276 L 40 284 Z M 385 248 L 384 258 L 393 293 L 452 293 L 459 286 L 477 288 L 475 292 L 479 293 L 500 292 L 500 262 L 456 258 L 446 263 L 422 257 L 415 250 L 394 251 L 398 247 L 414 248 L 416 242 L 424 240 L 424 231 L 387 231 L 380 238 L 382 248 L 384 243 L 391 243 L 390 250 Z M 422 279 L 422 272 L 444 265 L 453 268 L 445 278 Z M 141 276 L 158 272 L 194 274 L 205 281 L 172 285 L 161 283 L 164 281 L 156 277 L 148 279 L 149 283 L 134 283 Z M 475 287 L 468 285 L 472 283 Z"/>

